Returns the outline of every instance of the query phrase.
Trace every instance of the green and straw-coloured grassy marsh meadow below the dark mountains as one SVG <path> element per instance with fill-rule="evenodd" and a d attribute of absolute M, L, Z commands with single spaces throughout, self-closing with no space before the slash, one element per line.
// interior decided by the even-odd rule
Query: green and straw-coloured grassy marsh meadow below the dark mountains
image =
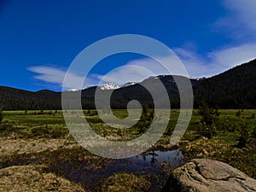
<path fill-rule="evenodd" d="M 178 143 L 178 146 L 182 147 L 184 159 L 221 160 L 255 178 L 256 121 L 254 113 L 256 110 L 226 109 L 218 112 L 216 134 L 207 138 L 202 137 L 201 132 L 198 131 L 201 115 L 198 114 L 198 110 L 193 111 L 189 127 L 182 141 Z M 125 110 L 114 110 L 113 113 L 119 118 L 127 116 Z M 148 116 L 151 113 L 153 112 L 149 110 Z M 163 148 L 169 146 L 179 113 L 178 109 L 172 109 L 166 132 L 156 146 Z M 145 116 L 136 125 L 120 131 L 105 125 L 94 110 L 84 110 L 84 114 L 97 134 L 113 141 L 128 141 L 139 137 L 147 131 L 145 127 L 150 125 L 152 120 Z M 161 115 L 158 118 L 159 126 L 166 119 L 169 120 L 169 117 Z M 243 146 L 239 146 L 241 139 L 244 141 Z M 12 187 L 15 191 L 19 191 L 11 182 L 19 180 L 20 176 L 15 174 L 17 170 L 21 175 L 24 174 L 21 184 L 24 189 L 37 185 L 35 184 L 37 179 L 33 180 L 31 177 L 32 174 L 37 175 L 42 183 L 35 187 L 35 191 L 40 189 L 58 191 L 65 188 L 63 183 L 67 185 L 65 191 L 69 189 L 70 191 L 72 189 L 122 191 L 125 186 L 129 191 L 147 191 L 152 185 L 152 180 L 157 177 L 153 174 L 149 176 L 128 172 L 106 174 L 101 177 L 96 173 L 110 165 L 112 161 L 90 154 L 79 147 L 69 134 L 61 111 L 3 112 L 3 121 L 0 124 L 0 191 L 10 190 Z M 34 171 L 26 172 L 27 169 Z M 92 176 L 89 177 L 88 174 Z M 4 182 L 2 182 L 3 179 Z"/>

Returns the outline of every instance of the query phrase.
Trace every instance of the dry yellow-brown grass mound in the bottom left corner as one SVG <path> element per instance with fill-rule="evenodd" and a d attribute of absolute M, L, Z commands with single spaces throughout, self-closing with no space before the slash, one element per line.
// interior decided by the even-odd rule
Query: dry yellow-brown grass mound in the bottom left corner
<path fill-rule="evenodd" d="M 0 191 L 85 192 L 79 184 L 53 173 L 42 172 L 42 168 L 43 166 L 11 166 L 0 169 Z"/>

